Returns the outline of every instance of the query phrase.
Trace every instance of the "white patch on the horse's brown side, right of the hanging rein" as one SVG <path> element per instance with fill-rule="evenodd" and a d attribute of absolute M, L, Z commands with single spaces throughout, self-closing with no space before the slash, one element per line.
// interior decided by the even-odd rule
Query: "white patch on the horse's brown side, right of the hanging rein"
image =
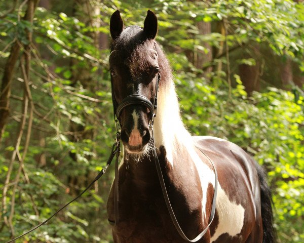
<path fill-rule="evenodd" d="M 236 236 L 241 233 L 244 225 L 245 209 L 242 205 L 237 205 L 233 201 L 230 201 L 219 183 L 216 197 L 216 211 L 218 213 L 218 226 L 210 242 L 215 241 L 224 233 L 230 236 Z"/>

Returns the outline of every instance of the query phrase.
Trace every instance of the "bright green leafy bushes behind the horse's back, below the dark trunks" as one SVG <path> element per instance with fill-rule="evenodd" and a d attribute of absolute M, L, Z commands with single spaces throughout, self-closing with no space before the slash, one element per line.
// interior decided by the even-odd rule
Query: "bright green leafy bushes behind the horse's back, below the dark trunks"
<path fill-rule="evenodd" d="M 227 89 L 202 85 L 200 79 L 178 80 L 178 90 L 187 85 L 179 97 L 188 127 L 194 134 L 221 137 L 240 145 L 267 169 L 279 236 L 283 242 L 301 242 L 304 97 L 295 102 L 291 92 L 269 88 L 248 98 L 238 85 L 234 98 L 229 99 Z M 291 222 L 296 222 L 292 229 Z"/>

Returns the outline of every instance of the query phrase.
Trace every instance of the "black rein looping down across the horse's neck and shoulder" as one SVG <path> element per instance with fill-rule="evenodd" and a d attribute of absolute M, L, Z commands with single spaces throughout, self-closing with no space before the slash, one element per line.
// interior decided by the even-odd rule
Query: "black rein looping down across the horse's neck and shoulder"
<path fill-rule="evenodd" d="M 156 169 L 157 169 L 157 174 L 158 174 L 158 177 L 159 177 L 159 180 L 160 180 L 160 183 L 161 183 L 161 187 L 162 187 L 162 191 L 163 191 L 163 195 L 164 195 L 164 198 L 165 198 L 165 202 L 166 202 L 166 205 L 167 205 L 167 208 L 168 208 L 168 211 L 169 211 L 169 214 L 170 214 L 170 217 L 173 221 L 173 224 L 175 226 L 175 228 L 177 229 L 178 233 L 180 234 L 180 236 L 188 241 L 188 242 L 196 242 L 198 240 L 200 240 L 207 232 L 207 230 L 209 229 L 213 219 L 214 219 L 214 215 L 215 215 L 215 209 L 216 209 L 216 195 L 217 195 L 217 171 L 215 169 L 215 166 L 214 164 L 212 163 L 211 159 L 199 148 L 197 147 L 210 161 L 210 163 L 212 164 L 213 166 L 213 169 L 214 169 L 214 174 L 215 174 L 215 184 L 214 184 L 214 193 L 213 193 L 213 200 L 212 200 L 212 208 L 211 208 L 211 214 L 210 214 L 210 219 L 209 219 L 209 224 L 208 226 L 197 236 L 195 237 L 194 239 L 188 239 L 187 236 L 184 234 L 184 232 L 182 231 L 182 229 L 180 228 L 178 222 L 177 222 L 177 219 L 175 217 L 175 214 L 173 212 L 173 209 L 172 209 L 172 206 L 171 206 L 171 203 L 170 203 L 170 199 L 169 199 L 169 196 L 168 196 L 168 192 L 167 192 L 167 189 L 166 189 L 166 185 L 165 185 L 165 181 L 164 181 L 164 177 L 163 177 L 163 173 L 162 173 L 162 170 L 161 170 L 161 166 L 160 166 L 160 161 L 158 159 L 158 156 L 157 156 L 157 153 L 156 153 L 156 149 L 154 150 L 154 156 L 155 156 L 155 165 L 156 165 Z"/>

